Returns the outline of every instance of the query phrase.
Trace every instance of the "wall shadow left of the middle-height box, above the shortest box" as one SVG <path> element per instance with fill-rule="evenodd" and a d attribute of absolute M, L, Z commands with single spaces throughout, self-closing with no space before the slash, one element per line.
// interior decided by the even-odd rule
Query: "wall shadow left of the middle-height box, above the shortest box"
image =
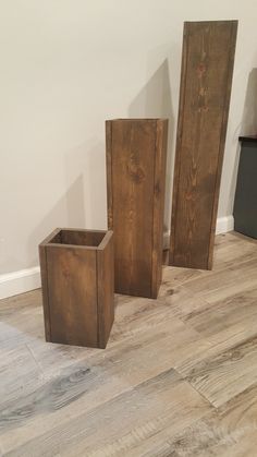
<path fill-rule="evenodd" d="M 66 191 L 34 229 L 28 244 L 29 266 L 38 265 L 38 244 L 57 227 L 106 229 L 105 146 L 82 143 L 65 154 Z M 52 199 L 54 202 L 54 199 Z"/>

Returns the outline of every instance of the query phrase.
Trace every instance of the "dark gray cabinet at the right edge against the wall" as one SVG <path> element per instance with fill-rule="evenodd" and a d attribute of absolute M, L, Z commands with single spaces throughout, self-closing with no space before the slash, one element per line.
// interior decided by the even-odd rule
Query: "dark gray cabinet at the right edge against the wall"
<path fill-rule="evenodd" d="M 234 202 L 234 229 L 257 238 L 257 136 L 240 136 L 241 157 Z"/>

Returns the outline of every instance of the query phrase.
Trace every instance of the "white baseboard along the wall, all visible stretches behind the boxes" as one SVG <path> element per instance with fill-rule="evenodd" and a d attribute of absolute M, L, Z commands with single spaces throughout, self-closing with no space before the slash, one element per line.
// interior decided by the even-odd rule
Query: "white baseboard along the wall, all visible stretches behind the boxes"
<path fill-rule="evenodd" d="M 227 233 L 234 229 L 233 216 L 217 219 L 216 234 Z M 163 236 L 163 249 L 169 249 L 170 232 Z M 39 266 L 0 275 L 0 299 L 17 296 L 41 287 Z"/>

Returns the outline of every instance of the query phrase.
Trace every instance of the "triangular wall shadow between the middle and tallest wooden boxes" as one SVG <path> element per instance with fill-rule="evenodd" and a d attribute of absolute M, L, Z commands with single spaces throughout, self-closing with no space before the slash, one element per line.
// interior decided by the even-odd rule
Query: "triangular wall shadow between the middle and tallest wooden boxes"
<path fill-rule="evenodd" d="M 166 176 L 164 231 L 170 228 L 171 218 L 171 185 L 173 178 L 173 136 L 174 116 L 172 109 L 170 74 L 166 59 L 151 79 L 142 88 L 128 108 L 131 118 L 168 118 L 168 151 Z"/>

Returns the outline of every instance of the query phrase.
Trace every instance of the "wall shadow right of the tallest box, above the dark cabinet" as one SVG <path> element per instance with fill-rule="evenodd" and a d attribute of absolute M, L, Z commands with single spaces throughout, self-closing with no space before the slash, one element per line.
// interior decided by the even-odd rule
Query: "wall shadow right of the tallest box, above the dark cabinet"
<path fill-rule="evenodd" d="M 236 188 L 236 180 L 237 180 L 237 170 L 238 170 L 238 163 L 240 163 L 240 152 L 241 152 L 241 144 L 238 142 L 240 135 L 256 135 L 257 134 L 257 69 L 253 69 L 248 76 L 248 83 L 246 88 L 245 95 L 245 104 L 243 109 L 242 122 L 241 128 L 236 131 L 236 155 L 234 160 L 234 172 L 233 172 L 233 180 L 231 183 L 231 200 L 229 202 L 229 212 L 233 212 L 234 205 L 234 196 L 235 196 L 235 188 Z M 229 213 L 230 214 L 230 213 Z"/>

